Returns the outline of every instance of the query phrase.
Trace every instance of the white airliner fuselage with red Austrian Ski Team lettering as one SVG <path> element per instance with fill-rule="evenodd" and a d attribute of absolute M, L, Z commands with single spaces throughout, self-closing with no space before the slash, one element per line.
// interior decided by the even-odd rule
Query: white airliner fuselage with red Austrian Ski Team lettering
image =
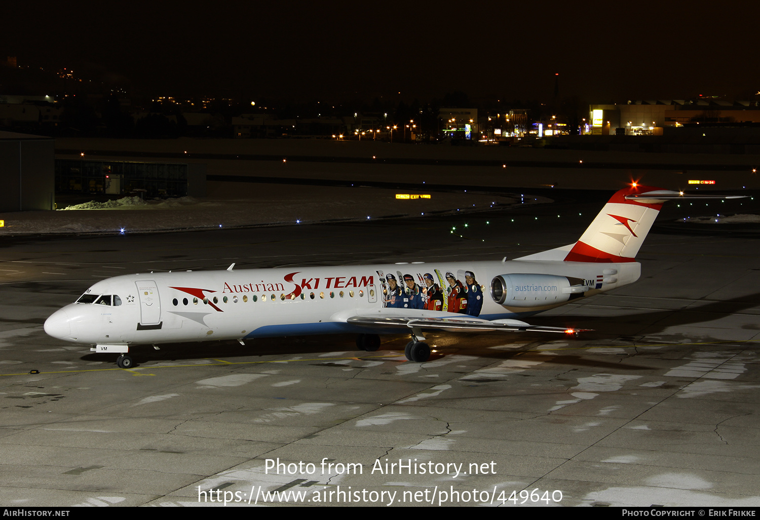
<path fill-rule="evenodd" d="M 394 312 L 440 317 L 452 315 L 446 303 L 440 309 L 417 309 L 411 296 L 416 291 L 425 299 L 424 277 L 431 274 L 446 302 L 451 283 L 445 274 L 454 274 L 467 288 L 466 271 L 482 288 L 480 294 L 467 291 L 470 309 L 482 299 L 475 315 L 493 320 L 532 315 L 630 284 L 638 279 L 640 265 L 512 260 L 132 274 L 97 282 L 80 299 L 92 303 L 63 307 L 49 317 L 45 330 L 55 338 L 93 345 L 366 332 L 366 326 L 347 319 L 383 312 L 392 292 L 389 274 L 402 288 L 410 285 L 404 276 L 413 277 L 413 288 L 394 302 Z M 495 277 L 512 284 L 504 287 L 501 304 L 492 296 Z"/>

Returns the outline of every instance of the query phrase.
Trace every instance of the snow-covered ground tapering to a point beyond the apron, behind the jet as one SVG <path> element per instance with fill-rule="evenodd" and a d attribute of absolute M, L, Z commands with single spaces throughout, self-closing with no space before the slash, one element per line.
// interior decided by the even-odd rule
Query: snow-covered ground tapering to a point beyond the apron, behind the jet
<path fill-rule="evenodd" d="M 69 211 L 18 211 L 0 213 L 5 227 L 0 236 L 24 233 L 152 233 L 209 230 L 230 227 L 296 226 L 318 222 L 366 221 L 378 218 L 459 214 L 496 208 L 543 204 L 536 197 L 523 201 L 516 195 L 433 192 L 432 198 L 402 200 L 396 190 L 356 189 L 311 185 L 218 183 L 212 198 L 179 197 L 166 200 L 125 197 L 117 201 L 90 201 Z M 106 211 L 90 211 L 90 210 Z M 123 230 L 123 231 L 122 231 Z"/>

